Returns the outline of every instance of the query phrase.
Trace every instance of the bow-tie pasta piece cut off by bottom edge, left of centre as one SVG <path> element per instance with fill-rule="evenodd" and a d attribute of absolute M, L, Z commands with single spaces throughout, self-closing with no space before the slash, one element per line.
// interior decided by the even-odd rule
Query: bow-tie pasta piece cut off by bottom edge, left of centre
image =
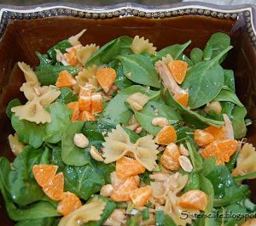
<path fill-rule="evenodd" d="M 98 221 L 101 219 L 106 204 L 105 201 L 96 197 L 90 203 L 84 204 L 79 209 L 61 218 L 58 226 L 79 226 L 90 221 Z"/>

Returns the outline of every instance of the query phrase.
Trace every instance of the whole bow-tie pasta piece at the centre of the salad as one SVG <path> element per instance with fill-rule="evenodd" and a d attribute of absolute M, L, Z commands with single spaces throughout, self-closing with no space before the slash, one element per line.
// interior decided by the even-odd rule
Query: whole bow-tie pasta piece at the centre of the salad
<path fill-rule="evenodd" d="M 102 144 L 105 163 L 117 161 L 128 153 L 132 154 L 149 171 L 152 171 L 157 166 L 158 145 L 154 143 L 154 138 L 151 135 L 138 138 L 136 144 L 132 144 L 128 133 L 125 132 L 123 127 L 117 125 L 116 129 L 108 133 L 105 141 Z"/>

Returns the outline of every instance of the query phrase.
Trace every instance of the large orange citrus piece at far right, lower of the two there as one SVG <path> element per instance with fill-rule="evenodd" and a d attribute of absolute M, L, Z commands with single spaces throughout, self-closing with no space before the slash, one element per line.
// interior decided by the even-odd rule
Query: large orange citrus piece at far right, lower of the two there
<path fill-rule="evenodd" d="M 230 156 L 236 152 L 238 142 L 236 139 L 217 140 L 208 144 L 207 147 L 201 151 L 204 158 L 215 157 L 218 165 L 224 165 L 225 162 L 230 161 Z"/>

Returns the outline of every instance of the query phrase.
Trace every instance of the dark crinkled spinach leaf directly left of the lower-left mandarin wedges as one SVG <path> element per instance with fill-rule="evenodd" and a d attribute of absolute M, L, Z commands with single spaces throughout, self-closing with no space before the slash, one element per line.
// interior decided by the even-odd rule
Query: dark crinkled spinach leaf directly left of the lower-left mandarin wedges
<path fill-rule="evenodd" d="M 26 206 L 34 201 L 39 201 L 44 196 L 42 188 L 32 175 L 32 167 L 37 164 L 49 163 L 49 149 L 35 150 L 26 146 L 15 158 L 14 168 L 9 172 L 9 192 L 13 201 L 20 206 Z"/>

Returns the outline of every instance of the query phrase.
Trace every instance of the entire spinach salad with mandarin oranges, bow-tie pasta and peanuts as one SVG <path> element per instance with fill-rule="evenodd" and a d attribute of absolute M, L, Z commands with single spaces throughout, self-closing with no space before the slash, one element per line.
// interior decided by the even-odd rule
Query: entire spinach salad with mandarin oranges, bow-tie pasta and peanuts
<path fill-rule="evenodd" d="M 242 184 L 256 178 L 252 121 L 221 66 L 230 37 L 187 56 L 191 41 L 100 48 L 84 32 L 37 52 L 34 69 L 18 63 L 26 102 L 6 109 L 16 157 L 0 157 L 15 225 L 255 225 Z"/>

